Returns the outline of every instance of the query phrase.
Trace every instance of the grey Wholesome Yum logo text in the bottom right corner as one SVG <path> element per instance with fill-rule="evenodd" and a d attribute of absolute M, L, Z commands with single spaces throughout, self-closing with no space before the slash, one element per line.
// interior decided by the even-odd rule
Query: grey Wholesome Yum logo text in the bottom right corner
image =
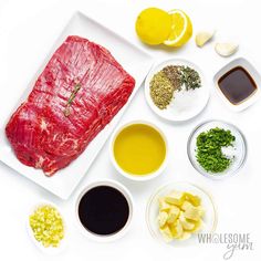
<path fill-rule="evenodd" d="M 225 260 L 229 260 L 234 252 L 253 250 L 250 233 L 199 233 L 199 243 L 221 243 L 226 246 Z"/>

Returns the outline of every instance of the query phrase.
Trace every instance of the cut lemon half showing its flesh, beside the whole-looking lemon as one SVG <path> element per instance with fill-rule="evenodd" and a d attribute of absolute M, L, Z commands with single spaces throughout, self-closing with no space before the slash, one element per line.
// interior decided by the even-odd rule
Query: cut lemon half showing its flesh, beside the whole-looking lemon
<path fill-rule="evenodd" d="M 192 35 L 192 23 L 189 17 L 181 10 L 168 12 L 171 17 L 171 32 L 164 44 L 179 48 L 184 45 Z"/>

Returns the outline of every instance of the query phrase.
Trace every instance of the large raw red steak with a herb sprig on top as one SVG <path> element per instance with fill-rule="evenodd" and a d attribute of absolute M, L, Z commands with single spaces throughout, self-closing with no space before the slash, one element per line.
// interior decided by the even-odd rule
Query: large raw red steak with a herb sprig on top
<path fill-rule="evenodd" d="M 69 36 L 7 124 L 18 159 L 46 176 L 66 167 L 126 104 L 134 86 L 105 48 Z"/>

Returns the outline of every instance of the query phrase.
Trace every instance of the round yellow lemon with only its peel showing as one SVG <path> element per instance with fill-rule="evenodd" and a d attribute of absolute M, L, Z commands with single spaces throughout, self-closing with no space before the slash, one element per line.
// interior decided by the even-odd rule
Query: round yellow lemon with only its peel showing
<path fill-rule="evenodd" d="M 158 8 L 143 10 L 136 20 L 139 39 L 150 45 L 163 43 L 171 31 L 171 15 Z"/>

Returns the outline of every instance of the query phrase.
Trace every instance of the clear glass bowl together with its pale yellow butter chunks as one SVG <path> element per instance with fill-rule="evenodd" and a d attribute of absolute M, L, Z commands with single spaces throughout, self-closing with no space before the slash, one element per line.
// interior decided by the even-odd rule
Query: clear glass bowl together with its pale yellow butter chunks
<path fill-rule="evenodd" d="M 168 244 L 197 243 L 197 233 L 211 233 L 217 212 L 211 196 L 189 182 L 169 182 L 148 200 L 146 222 L 150 234 Z"/>

